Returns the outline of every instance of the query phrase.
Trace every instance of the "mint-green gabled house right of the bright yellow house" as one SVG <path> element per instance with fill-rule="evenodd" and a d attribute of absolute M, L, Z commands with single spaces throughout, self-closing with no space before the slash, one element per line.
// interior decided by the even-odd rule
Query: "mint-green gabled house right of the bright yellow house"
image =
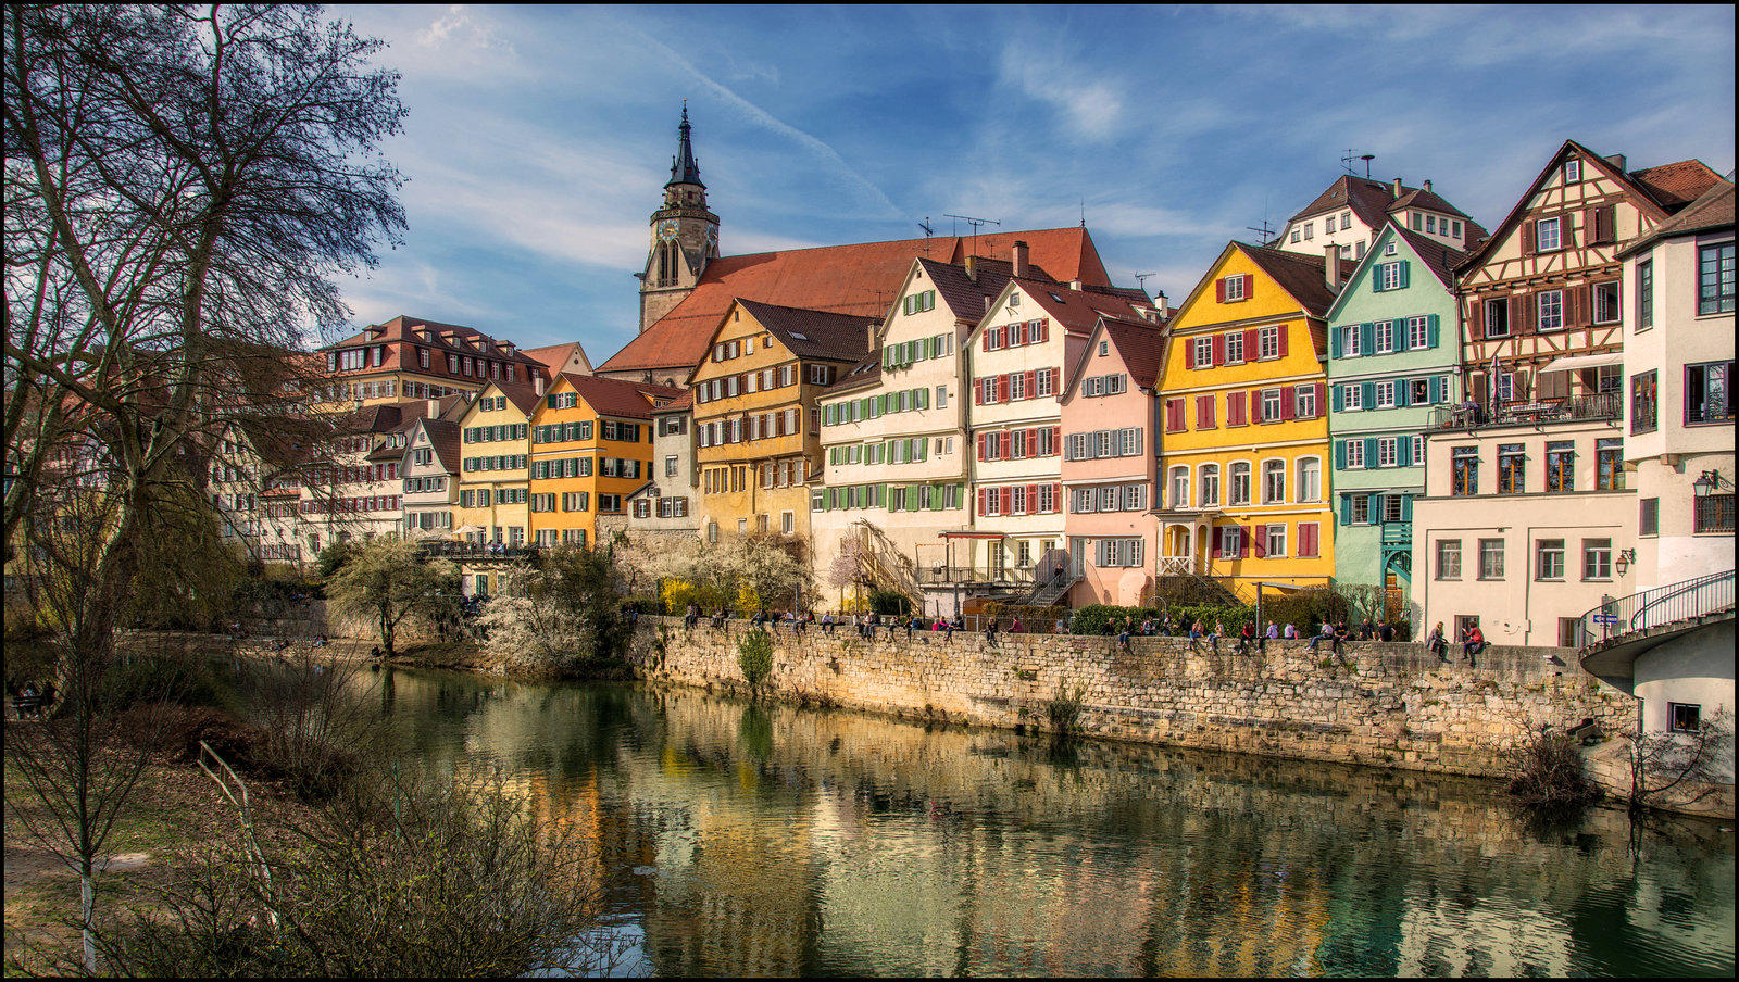
<path fill-rule="evenodd" d="M 1393 217 L 1329 308 L 1334 579 L 1409 593 L 1433 407 L 1461 401 L 1456 266 Z"/>

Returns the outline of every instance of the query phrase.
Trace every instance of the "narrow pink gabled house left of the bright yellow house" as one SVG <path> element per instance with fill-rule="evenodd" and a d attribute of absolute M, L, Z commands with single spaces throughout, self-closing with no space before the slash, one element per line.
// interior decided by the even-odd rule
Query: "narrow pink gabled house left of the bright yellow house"
<path fill-rule="evenodd" d="M 1101 316 L 1063 389 L 1069 607 L 1136 605 L 1153 589 L 1158 323 Z"/>

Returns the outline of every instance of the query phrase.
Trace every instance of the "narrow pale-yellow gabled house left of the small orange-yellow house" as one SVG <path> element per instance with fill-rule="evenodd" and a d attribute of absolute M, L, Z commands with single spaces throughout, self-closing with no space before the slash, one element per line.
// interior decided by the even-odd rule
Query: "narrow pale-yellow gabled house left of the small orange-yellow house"
<path fill-rule="evenodd" d="M 454 530 L 468 542 L 518 547 L 530 537 L 530 417 L 537 396 L 489 382 L 459 421 L 459 508 Z"/>

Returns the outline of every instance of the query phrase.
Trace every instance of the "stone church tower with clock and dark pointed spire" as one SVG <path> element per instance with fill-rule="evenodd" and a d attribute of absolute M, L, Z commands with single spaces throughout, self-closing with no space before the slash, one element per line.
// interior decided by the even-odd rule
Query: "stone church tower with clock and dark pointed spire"
<path fill-rule="evenodd" d="M 652 249 L 640 276 L 640 330 L 657 323 L 701 282 L 718 257 L 718 216 L 706 210 L 706 184 L 689 143 L 689 103 L 682 106 L 676 156 L 670 162 L 664 205 L 652 212 Z"/>

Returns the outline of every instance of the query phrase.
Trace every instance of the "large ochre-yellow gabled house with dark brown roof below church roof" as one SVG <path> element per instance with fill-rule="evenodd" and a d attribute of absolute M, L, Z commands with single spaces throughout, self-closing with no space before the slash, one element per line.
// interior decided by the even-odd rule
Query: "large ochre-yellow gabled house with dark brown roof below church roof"
<path fill-rule="evenodd" d="M 736 301 L 689 377 L 701 527 L 809 535 L 821 461 L 816 398 L 870 353 L 866 316 Z"/>

